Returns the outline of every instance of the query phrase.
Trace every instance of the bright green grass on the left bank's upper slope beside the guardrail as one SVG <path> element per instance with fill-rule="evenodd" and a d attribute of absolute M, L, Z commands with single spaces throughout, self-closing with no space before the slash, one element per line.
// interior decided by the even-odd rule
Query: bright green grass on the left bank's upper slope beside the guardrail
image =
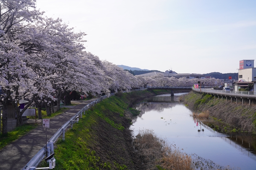
<path fill-rule="evenodd" d="M 55 170 L 128 170 L 126 165 L 120 165 L 115 160 L 102 162 L 101 158 L 96 156 L 96 151 L 90 149 L 94 143 L 97 143 L 94 141 L 95 132 L 91 126 L 97 125 L 98 119 L 103 119 L 113 128 L 122 131 L 124 127 L 120 123 L 115 123 L 112 120 L 114 117 L 111 115 L 117 113 L 116 116 L 121 116 L 120 113 L 123 113 L 127 106 L 117 96 L 113 96 L 86 111 L 82 119 L 79 119 L 79 123 L 75 123 L 73 129 L 69 129 L 65 133 L 65 141 L 59 139 L 56 142 L 54 151 L 58 166 L 55 167 Z M 107 114 L 104 114 L 106 111 Z M 40 166 L 47 166 L 47 164 L 43 162 Z"/>

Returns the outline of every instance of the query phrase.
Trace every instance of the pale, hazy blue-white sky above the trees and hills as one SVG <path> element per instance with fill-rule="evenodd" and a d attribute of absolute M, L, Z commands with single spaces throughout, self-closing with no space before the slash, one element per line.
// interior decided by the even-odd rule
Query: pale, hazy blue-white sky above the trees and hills
<path fill-rule="evenodd" d="M 37 8 L 85 32 L 85 51 L 116 65 L 234 73 L 256 56 L 255 0 L 37 0 Z"/>

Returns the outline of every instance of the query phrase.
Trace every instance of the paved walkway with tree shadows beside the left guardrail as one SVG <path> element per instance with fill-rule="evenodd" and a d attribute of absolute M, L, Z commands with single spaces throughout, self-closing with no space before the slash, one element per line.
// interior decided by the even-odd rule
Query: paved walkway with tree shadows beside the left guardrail
<path fill-rule="evenodd" d="M 50 119 L 50 128 L 47 129 L 47 141 L 61 128 L 72 116 L 85 105 L 96 99 L 76 102 L 73 108 Z M 35 122 L 35 120 L 34 120 Z M 38 122 L 37 122 L 38 123 Z M 39 125 L 23 137 L 15 140 L 0 150 L 0 170 L 21 170 L 27 162 L 46 144 L 46 128 Z"/>

